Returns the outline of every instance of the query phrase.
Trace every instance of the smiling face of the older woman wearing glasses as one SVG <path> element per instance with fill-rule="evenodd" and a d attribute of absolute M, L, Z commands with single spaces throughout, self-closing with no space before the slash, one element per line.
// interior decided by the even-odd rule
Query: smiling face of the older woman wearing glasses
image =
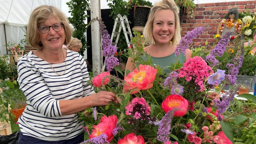
<path fill-rule="evenodd" d="M 40 25 L 53 25 L 56 23 L 61 23 L 55 17 L 50 17 L 46 19 L 45 22 Z M 64 27 L 60 31 L 55 31 L 50 27 L 50 31 L 46 34 L 40 32 L 40 41 L 42 42 L 42 47 L 50 50 L 56 50 L 62 48 L 65 41 Z"/>

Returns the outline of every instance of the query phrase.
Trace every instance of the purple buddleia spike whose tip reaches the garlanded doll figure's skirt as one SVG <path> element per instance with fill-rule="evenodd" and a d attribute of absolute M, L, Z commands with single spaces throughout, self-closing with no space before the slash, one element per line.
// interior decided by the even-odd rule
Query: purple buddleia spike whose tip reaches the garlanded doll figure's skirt
<path fill-rule="evenodd" d="M 216 66 L 219 61 L 215 58 L 215 56 L 221 57 L 226 49 L 229 38 L 232 35 L 232 32 L 227 32 L 222 36 L 221 40 L 215 45 L 214 49 L 210 51 L 210 54 L 206 56 L 206 61 L 210 63 L 211 66 Z"/>

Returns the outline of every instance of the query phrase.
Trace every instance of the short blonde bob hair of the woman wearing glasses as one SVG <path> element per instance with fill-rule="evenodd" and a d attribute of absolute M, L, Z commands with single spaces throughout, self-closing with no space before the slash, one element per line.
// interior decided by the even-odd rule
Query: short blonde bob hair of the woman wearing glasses
<path fill-rule="evenodd" d="M 40 31 L 38 26 L 45 22 L 47 18 L 54 17 L 58 21 L 64 24 L 65 41 L 64 44 L 67 45 L 72 36 L 72 28 L 69 25 L 67 17 L 56 7 L 42 5 L 33 10 L 30 15 L 28 27 L 27 27 L 27 41 L 32 47 L 41 49 L 42 43 L 40 42 Z"/>

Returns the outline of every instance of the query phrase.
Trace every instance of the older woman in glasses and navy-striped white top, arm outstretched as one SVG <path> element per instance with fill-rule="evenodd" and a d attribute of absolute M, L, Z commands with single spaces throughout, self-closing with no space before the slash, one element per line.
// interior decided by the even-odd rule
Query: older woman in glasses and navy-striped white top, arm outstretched
<path fill-rule="evenodd" d="M 64 14 L 53 6 L 31 13 L 27 39 L 39 50 L 19 58 L 18 83 L 27 106 L 18 122 L 19 143 L 80 143 L 83 124 L 77 112 L 115 101 L 115 94 L 95 93 L 87 84 L 86 62 L 77 52 L 62 49 L 72 29 Z"/>

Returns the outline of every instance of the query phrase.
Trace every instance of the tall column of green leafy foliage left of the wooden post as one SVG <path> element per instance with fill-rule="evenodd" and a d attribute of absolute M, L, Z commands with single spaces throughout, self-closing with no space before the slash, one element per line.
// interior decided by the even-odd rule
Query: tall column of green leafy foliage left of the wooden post
<path fill-rule="evenodd" d="M 81 40 L 83 47 L 80 49 L 79 54 L 84 56 L 83 54 L 84 51 L 89 47 L 87 46 L 86 35 L 85 35 L 88 29 L 85 21 L 87 20 L 87 17 L 89 17 L 89 15 L 86 14 L 86 12 L 90 10 L 89 0 L 84 0 L 84 1 L 71 0 L 66 4 L 70 9 L 70 11 L 68 12 L 71 13 L 71 16 L 72 16 L 72 17 L 69 17 L 68 20 L 76 29 L 73 32 L 72 36 L 74 38 L 78 38 L 79 40 Z"/>

